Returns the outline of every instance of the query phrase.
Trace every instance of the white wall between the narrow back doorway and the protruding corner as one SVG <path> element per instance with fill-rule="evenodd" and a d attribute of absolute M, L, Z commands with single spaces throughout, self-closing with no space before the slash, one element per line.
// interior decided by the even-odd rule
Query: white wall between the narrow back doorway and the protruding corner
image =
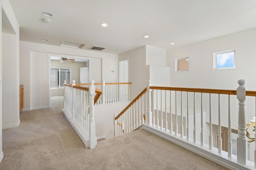
<path fill-rule="evenodd" d="M 146 66 L 146 46 L 122 53 L 119 60 L 129 58 L 129 81 L 131 84 L 131 100 L 144 88 L 149 80 L 149 66 Z"/>

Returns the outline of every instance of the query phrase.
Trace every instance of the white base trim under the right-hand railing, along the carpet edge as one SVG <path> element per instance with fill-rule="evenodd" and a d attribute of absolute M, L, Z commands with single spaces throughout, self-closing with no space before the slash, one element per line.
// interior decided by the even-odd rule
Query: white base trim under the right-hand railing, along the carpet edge
<path fill-rule="evenodd" d="M 213 148 L 212 150 L 208 149 L 206 144 L 204 144 L 204 148 L 200 146 L 200 143 L 193 143 L 191 141 L 187 141 L 186 137 L 183 138 L 170 135 L 170 133 L 167 133 L 165 131 L 161 131 L 160 129 L 157 129 L 156 127 L 151 127 L 148 125 L 142 125 L 142 129 L 145 129 L 146 131 L 149 131 L 151 133 L 154 133 L 155 135 L 158 135 L 172 143 L 175 143 L 176 145 L 179 145 L 180 147 L 183 147 L 187 150 L 190 150 L 191 152 L 194 152 L 200 156 L 203 156 L 204 158 L 207 158 L 209 160 L 212 160 L 213 162 L 216 162 L 226 168 L 234 169 L 234 170 L 250 170 L 255 169 L 254 168 L 254 162 L 246 161 L 246 165 L 239 164 L 236 160 L 236 155 L 232 155 L 231 158 L 228 158 L 228 153 L 222 150 L 222 153 L 218 153 L 218 149 Z"/>

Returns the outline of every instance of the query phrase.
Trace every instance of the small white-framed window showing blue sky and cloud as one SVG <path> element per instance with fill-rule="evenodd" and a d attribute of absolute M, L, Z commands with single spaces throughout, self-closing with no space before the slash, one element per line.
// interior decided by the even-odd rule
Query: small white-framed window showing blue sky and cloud
<path fill-rule="evenodd" d="M 214 69 L 236 68 L 235 50 L 213 53 Z"/>

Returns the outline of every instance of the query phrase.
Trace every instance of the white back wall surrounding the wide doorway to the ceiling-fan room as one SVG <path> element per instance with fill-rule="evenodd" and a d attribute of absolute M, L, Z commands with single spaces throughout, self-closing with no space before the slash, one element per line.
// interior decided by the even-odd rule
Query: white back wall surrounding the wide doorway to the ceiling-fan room
<path fill-rule="evenodd" d="M 20 84 L 24 84 L 24 110 L 31 109 L 32 107 L 44 107 L 48 101 L 48 99 L 46 101 L 48 93 L 42 94 L 42 98 L 44 99 L 43 102 L 39 101 L 42 100 L 42 98 L 38 98 L 36 94 L 39 88 L 35 87 L 35 75 L 42 74 L 42 72 L 35 69 L 38 63 L 38 61 L 36 61 L 37 58 L 32 58 L 36 57 L 35 54 L 40 54 L 38 59 L 42 61 L 42 66 L 40 67 L 42 67 L 43 70 L 48 69 L 48 62 L 46 63 L 46 60 L 48 60 L 49 54 L 78 56 L 90 59 L 91 79 L 95 82 L 101 82 L 102 79 L 106 82 L 118 80 L 118 71 L 115 71 L 114 73 L 111 72 L 111 70 L 118 70 L 118 55 L 116 54 L 20 41 Z M 34 70 L 32 70 L 32 68 Z M 46 81 L 48 83 L 46 74 L 44 74 L 43 77 L 44 80 L 40 81 L 43 84 L 45 84 Z M 48 85 L 41 88 L 43 88 L 41 89 L 42 91 L 46 92 Z"/>

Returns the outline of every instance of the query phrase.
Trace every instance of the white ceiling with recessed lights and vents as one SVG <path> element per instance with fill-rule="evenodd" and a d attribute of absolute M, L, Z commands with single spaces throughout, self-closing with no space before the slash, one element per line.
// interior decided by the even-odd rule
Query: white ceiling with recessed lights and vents
<path fill-rule="evenodd" d="M 256 27 L 256 0 L 10 0 L 20 40 L 106 47 L 120 54 L 143 45 L 170 49 Z M 51 23 L 42 12 L 54 17 Z M 108 23 L 108 27 L 100 26 Z M 149 38 L 144 38 L 149 35 Z M 47 42 L 41 39 L 48 39 Z M 175 42 L 175 45 L 170 43 Z M 81 50 L 82 50 L 81 49 Z M 117 49 L 118 51 L 113 51 Z"/>

